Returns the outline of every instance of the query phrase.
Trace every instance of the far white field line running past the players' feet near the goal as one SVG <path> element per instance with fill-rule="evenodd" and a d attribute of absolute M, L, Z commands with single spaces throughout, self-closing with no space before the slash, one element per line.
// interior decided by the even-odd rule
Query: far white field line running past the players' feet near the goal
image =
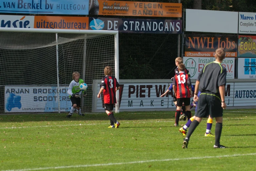
<path fill-rule="evenodd" d="M 229 120 L 229 119 L 223 119 Z M 239 119 L 236 120 L 255 120 L 254 118 L 246 118 L 246 119 Z M 121 122 L 122 124 L 138 124 L 138 123 L 164 123 L 164 122 L 173 122 L 173 121 L 148 121 L 148 122 Z M 46 125 L 46 126 L 33 126 L 33 127 L 4 127 L 0 129 L 17 129 L 17 128 L 44 128 L 44 127 L 68 127 L 68 126 L 89 126 L 89 125 L 108 125 L 109 123 L 105 124 L 74 124 L 74 125 Z"/>

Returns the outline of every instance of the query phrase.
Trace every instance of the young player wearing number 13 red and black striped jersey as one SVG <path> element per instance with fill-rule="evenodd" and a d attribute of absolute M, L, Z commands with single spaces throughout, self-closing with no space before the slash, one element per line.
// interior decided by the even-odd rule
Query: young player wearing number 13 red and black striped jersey
<path fill-rule="evenodd" d="M 175 75 L 172 82 L 173 90 L 174 90 L 175 96 L 177 97 L 177 109 L 175 113 L 175 124 L 174 124 L 175 127 L 179 126 L 179 117 L 180 117 L 180 112 L 182 109 L 183 102 L 186 107 L 186 115 L 191 116 L 190 97 L 192 95 L 192 88 L 191 88 L 190 77 L 184 72 L 185 65 L 183 63 L 179 64 L 178 69 L 179 69 L 179 73 Z"/>

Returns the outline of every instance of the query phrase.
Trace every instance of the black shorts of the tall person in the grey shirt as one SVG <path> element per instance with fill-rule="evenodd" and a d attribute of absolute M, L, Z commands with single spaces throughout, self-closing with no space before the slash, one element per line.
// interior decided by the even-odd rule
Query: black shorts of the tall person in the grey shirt
<path fill-rule="evenodd" d="M 202 92 L 197 102 L 196 117 L 216 118 L 223 116 L 223 108 L 221 107 L 221 98 L 218 95 Z"/>

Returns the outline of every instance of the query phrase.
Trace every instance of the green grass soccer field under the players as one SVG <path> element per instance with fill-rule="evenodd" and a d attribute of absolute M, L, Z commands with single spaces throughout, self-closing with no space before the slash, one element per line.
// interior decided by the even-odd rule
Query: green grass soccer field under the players
<path fill-rule="evenodd" d="M 214 149 L 214 137 L 204 136 L 207 119 L 182 149 L 174 111 L 114 115 L 118 129 L 108 128 L 106 113 L 0 115 L 0 170 L 256 169 L 256 110 L 224 111 L 227 149 Z"/>

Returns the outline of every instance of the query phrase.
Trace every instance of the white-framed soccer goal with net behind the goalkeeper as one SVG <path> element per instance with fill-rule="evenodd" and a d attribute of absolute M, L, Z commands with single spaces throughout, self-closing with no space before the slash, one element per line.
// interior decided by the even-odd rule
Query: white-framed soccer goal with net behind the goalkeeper
<path fill-rule="evenodd" d="M 117 31 L 0 28 L 0 37 L 1 113 L 69 112 L 75 71 L 88 84 L 82 112 L 104 110 L 97 99 L 104 68 L 119 81 Z"/>

